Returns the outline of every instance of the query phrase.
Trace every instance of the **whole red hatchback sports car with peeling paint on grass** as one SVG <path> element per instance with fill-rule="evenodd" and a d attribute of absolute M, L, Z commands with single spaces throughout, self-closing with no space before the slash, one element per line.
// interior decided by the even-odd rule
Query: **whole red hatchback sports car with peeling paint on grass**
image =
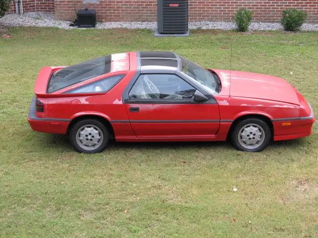
<path fill-rule="evenodd" d="M 44 67 L 28 121 L 69 134 L 79 152 L 116 141 L 223 141 L 261 151 L 271 140 L 308 136 L 306 99 L 284 79 L 204 69 L 171 52 L 129 52 L 69 67 Z"/>

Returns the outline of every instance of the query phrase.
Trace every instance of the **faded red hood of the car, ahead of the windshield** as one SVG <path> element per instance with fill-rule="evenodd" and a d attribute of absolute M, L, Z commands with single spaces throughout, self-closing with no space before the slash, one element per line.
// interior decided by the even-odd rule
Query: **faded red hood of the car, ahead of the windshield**
<path fill-rule="evenodd" d="M 295 88 L 282 78 L 259 73 L 231 71 L 230 81 L 230 70 L 215 71 L 220 75 L 221 82 L 225 81 L 229 85 L 228 90 L 231 97 L 265 99 L 300 105 Z M 222 75 L 227 75 L 227 77 L 223 78 Z"/>

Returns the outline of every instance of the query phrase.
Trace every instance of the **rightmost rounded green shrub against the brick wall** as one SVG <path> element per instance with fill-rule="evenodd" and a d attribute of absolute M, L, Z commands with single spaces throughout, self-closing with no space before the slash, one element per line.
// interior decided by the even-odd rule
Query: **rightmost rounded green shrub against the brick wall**
<path fill-rule="evenodd" d="M 303 10 L 286 9 L 283 10 L 281 23 L 286 31 L 298 30 L 306 21 L 307 12 Z"/>

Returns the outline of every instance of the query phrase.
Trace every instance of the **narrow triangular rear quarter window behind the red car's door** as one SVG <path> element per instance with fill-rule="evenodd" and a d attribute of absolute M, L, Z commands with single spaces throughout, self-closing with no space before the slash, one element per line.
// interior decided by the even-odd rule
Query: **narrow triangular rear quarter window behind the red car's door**
<path fill-rule="evenodd" d="M 65 93 L 106 93 L 112 89 L 125 75 L 114 75 L 87 85 L 72 89 Z"/>

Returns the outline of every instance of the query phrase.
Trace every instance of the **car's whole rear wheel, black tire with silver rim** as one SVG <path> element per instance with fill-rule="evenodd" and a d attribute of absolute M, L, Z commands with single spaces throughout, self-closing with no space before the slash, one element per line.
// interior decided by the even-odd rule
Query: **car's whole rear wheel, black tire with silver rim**
<path fill-rule="evenodd" d="M 79 136 L 80 132 L 82 132 L 81 137 Z M 83 119 L 72 126 L 70 141 L 78 152 L 98 153 L 106 148 L 109 141 L 109 133 L 106 126 L 99 120 Z"/>

